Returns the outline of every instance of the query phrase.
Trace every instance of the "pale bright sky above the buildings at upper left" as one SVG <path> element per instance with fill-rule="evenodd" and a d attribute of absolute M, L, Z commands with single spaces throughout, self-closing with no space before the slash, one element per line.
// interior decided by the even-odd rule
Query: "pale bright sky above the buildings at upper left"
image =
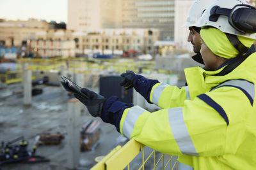
<path fill-rule="evenodd" d="M 67 23 L 67 0 L 0 0 L 0 18 Z"/>

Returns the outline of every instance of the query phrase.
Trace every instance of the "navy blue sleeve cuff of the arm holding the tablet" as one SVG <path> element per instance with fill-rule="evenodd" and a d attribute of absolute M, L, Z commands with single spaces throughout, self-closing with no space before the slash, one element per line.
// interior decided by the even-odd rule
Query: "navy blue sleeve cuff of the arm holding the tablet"
<path fill-rule="evenodd" d="M 131 108 L 133 104 L 131 103 L 123 103 L 118 101 L 117 96 L 109 97 L 104 103 L 101 119 L 109 124 L 113 124 L 116 127 L 116 130 L 120 132 L 120 121 L 124 110 L 127 108 Z"/>

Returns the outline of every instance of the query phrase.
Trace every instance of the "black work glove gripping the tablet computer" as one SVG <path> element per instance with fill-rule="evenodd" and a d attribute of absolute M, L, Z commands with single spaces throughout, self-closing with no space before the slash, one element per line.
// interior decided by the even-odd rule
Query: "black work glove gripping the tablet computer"
<path fill-rule="evenodd" d="M 86 88 L 81 89 L 81 92 L 88 96 L 88 99 L 84 99 L 78 94 L 74 94 L 74 96 L 87 107 L 93 117 L 101 117 L 106 98 Z"/>

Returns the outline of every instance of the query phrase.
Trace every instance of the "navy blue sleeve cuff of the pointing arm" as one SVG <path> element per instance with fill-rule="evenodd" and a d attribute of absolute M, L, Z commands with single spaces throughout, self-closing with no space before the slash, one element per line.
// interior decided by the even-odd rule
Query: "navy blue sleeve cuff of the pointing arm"
<path fill-rule="evenodd" d="M 156 83 L 159 83 L 159 81 L 148 79 L 144 76 L 136 74 L 133 80 L 133 87 L 138 93 L 141 94 L 141 96 L 143 96 L 147 100 L 148 103 L 151 103 L 150 92 L 152 90 L 152 87 L 156 85 Z"/>

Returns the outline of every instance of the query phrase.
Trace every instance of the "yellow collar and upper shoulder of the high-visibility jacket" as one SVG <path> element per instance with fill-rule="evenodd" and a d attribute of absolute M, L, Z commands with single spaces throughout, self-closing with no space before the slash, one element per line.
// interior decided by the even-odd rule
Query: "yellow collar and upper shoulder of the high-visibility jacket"
<path fill-rule="evenodd" d="M 213 87 L 220 83 L 233 80 L 245 79 L 248 81 L 255 81 L 256 79 L 256 53 L 250 55 L 244 62 L 236 67 L 232 72 L 225 76 L 216 76 L 225 67 L 228 66 L 230 60 L 223 63 L 216 71 L 207 71 L 202 67 L 189 67 L 185 69 L 186 80 L 189 87 L 191 99 L 205 92 L 209 92 Z"/>

